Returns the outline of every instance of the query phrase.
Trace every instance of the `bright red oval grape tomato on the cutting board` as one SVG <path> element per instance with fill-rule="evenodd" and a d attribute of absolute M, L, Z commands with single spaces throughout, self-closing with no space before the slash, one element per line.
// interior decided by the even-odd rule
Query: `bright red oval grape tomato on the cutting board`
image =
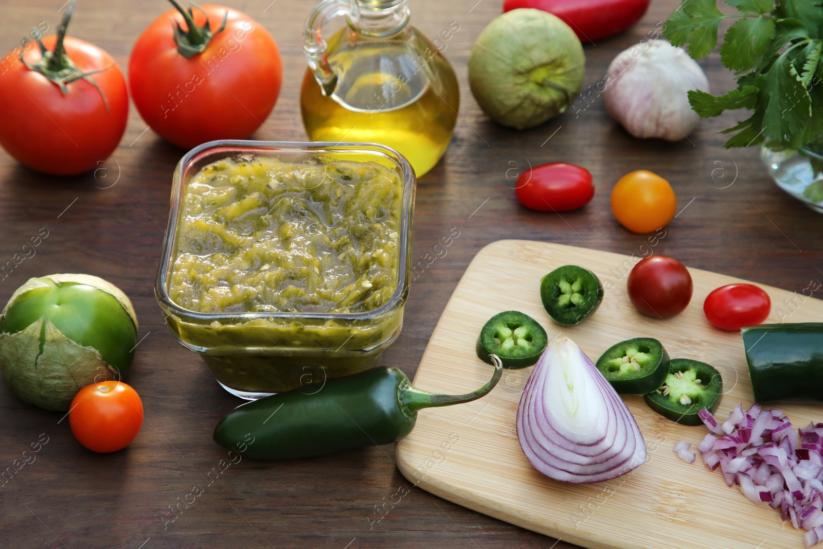
<path fill-rule="evenodd" d="M 739 330 L 761 324 L 771 312 L 771 300 L 754 284 L 720 286 L 703 302 L 706 319 L 721 330 Z"/>

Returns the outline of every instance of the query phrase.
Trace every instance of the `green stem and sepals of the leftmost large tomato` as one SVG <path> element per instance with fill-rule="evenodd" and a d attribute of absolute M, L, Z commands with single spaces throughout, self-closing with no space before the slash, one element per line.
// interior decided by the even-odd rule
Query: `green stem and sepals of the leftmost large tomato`
<path fill-rule="evenodd" d="M 26 54 L 26 44 L 31 41 L 28 37 L 26 37 L 26 39 L 23 40 L 19 56 L 20 61 L 26 65 L 26 68 L 30 71 L 40 72 L 40 74 L 48 78 L 49 81 L 56 84 L 58 88 L 60 88 L 60 91 L 64 94 L 68 93 L 68 88 L 66 87 L 67 84 L 71 84 L 73 81 L 80 79 L 87 81 L 92 86 L 95 86 L 97 91 L 100 92 L 100 97 L 103 98 L 103 104 L 105 105 L 105 111 L 108 113 L 109 101 L 106 100 L 103 91 L 100 90 L 100 86 L 97 86 L 97 82 L 93 81 L 89 77 L 97 72 L 109 70 L 109 68 L 114 66 L 114 63 L 109 65 L 109 67 L 101 68 L 97 71 L 82 72 L 79 68 L 77 68 L 77 65 L 74 64 L 72 59 L 68 57 L 68 54 L 66 54 L 66 49 L 63 45 L 63 42 L 66 39 L 66 29 L 68 28 L 69 21 L 72 19 L 75 4 L 77 4 L 77 0 L 69 0 L 68 5 L 66 6 L 66 11 L 63 12 L 63 19 L 60 21 L 60 25 L 57 28 L 57 42 L 54 44 L 54 50 L 49 51 L 49 49 L 46 49 L 43 44 L 40 30 L 32 30 L 31 34 L 35 36 L 35 41 L 38 46 L 40 46 L 40 60 L 36 63 L 29 63 L 25 58 L 23 58 Z"/>

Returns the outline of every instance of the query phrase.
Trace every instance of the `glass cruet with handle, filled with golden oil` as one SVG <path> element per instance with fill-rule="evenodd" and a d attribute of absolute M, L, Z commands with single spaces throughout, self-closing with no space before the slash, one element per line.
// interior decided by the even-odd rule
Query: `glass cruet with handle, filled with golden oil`
<path fill-rule="evenodd" d="M 420 177 L 449 146 L 460 92 L 449 61 L 408 25 L 407 0 L 323 0 L 305 25 L 300 110 L 309 139 L 376 142 Z M 323 40 L 322 28 L 347 26 Z"/>

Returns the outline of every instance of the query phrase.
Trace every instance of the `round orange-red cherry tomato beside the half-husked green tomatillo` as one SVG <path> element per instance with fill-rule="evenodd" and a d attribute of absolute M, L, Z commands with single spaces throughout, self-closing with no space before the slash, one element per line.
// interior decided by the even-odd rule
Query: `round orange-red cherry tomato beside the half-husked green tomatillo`
<path fill-rule="evenodd" d="M 137 391 L 122 381 L 81 388 L 72 400 L 68 424 L 77 441 L 92 452 L 116 452 L 131 444 L 143 423 Z"/>

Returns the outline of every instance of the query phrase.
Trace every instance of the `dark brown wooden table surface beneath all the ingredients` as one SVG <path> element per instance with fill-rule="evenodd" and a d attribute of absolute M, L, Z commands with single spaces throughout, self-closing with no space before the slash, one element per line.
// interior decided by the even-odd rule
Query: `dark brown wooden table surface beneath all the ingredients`
<path fill-rule="evenodd" d="M 0 51 L 10 51 L 40 21 L 53 32 L 62 3 L 0 1 Z M 227 3 L 263 24 L 283 56 L 280 98 L 253 137 L 305 140 L 298 105 L 305 70 L 300 33 L 314 2 Z M 385 352 L 385 364 L 414 375 L 464 269 L 494 240 L 643 253 L 646 237 L 623 229 L 609 208 L 611 186 L 631 170 L 653 170 L 668 179 L 682 208 L 656 253 L 798 293 L 810 281 L 823 280 L 823 216 L 780 191 L 754 148 L 723 149 L 718 130 L 743 114 L 703 119 L 695 133 L 675 143 L 637 140 L 608 118 L 597 82 L 611 58 L 661 26 L 677 7 L 675 0 L 653 0 L 634 28 L 585 45 L 585 86 L 593 86 L 588 100 L 579 98 L 570 112 L 523 132 L 487 119 L 467 85 L 472 42 L 500 13 L 500 3 L 410 2 L 412 21 L 426 35 L 438 35 L 453 21 L 459 26 L 444 54 L 462 94 L 449 151 L 417 184 L 414 261 L 433 254 L 433 246 L 455 229 L 459 237 L 413 281 L 405 325 Z M 168 7 L 163 0 L 81 0 L 70 34 L 107 50 L 125 71 L 137 35 Z M 733 86 L 717 54 L 700 64 L 713 91 Z M 9 108 L 15 107 L 0 105 Z M 412 487 L 395 468 L 391 445 L 294 462 L 244 459 L 209 484 L 207 473 L 226 458 L 212 442 L 212 429 L 240 401 L 216 384 L 198 356 L 174 341 L 156 304 L 171 174 L 184 151 L 144 130 L 132 109 L 114 155 L 94 173 L 70 179 L 37 174 L 0 152 L 0 263 L 21 253 L 43 227 L 48 231 L 34 256 L 2 275 L 0 301 L 29 277 L 53 272 L 86 272 L 122 288 L 137 309 L 139 337 L 145 337 L 128 383 L 142 397 L 146 420 L 128 449 L 92 454 L 77 444 L 67 421 L 59 421 L 63 414 L 28 406 L 0 383 L 0 468 L 19 463 L 14 460 L 41 434 L 48 437 L 35 462 L 0 487 L 2 547 L 572 547 Z M 591 170 L 597 193 L 588 206 L 560 216 L 518 204 L 516 174 L 550 161 Z M 204 493 L 172 514 L 196 485 Z M 374 522 L 376 506 L 403 493 L 404 486 L 409 493 L 401 503 Z"/>

